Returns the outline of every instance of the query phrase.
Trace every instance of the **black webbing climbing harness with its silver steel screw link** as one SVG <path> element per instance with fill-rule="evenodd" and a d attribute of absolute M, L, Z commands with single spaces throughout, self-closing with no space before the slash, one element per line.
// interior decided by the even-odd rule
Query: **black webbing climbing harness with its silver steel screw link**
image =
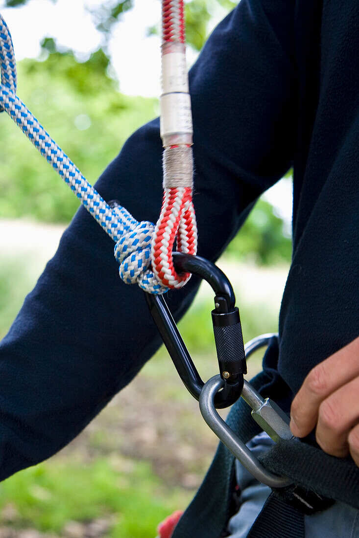
<path fill-rule="evenodd" d="M 268 344 L 275 352 L 275 348 L 278 348 L 277 335 L 254 338 L 245 345 L 246 358 Z M 189 528 L 191 538 L 219 538 L 228 535 L 228 521 L 239 509 L 240 492 L 236 491 L 235 457 L 257 479 L 272 488 L 272 493 L 247 538 L 305 538 L 305 514 L 321 512 L 330 507 L 334 500 L 359 509 L 359 470 L 355 463 L 349 459 L 330 456 L 313 445 L 289 438 L 291 434 L 285 416 L 282 421 L 283 417 L 277 417 L 270 407 L 264 405 L 266 400 L 263 402 L 258 397 L 259 392 L 265 390 L 271 382 L 271 375 L 265 371 L 253 378 L 248 387 L 250 392 L 242 393 L 243 398 L 239 398 L 231 407 L 225 423 L 218 418 L 213 399 L 219 394 L 217 391 L 223 385 L 223 380 L 220 376 L 215 376 L 204 385 L 199 398 L 201 411 L 222 443 L 218 446 L 195 498 L 170 535 L 171 538 L 188 538 Z M 272 431 L 268 430 L 268 426 Z M 263 429 L 275 441 L 272 448 L 258 457 L 265 476 L 261 474 L 257 461 L 251 461 L 251 452 L 244 457 L 241 454 L 246 443 Z M 268 471 L 274 475 L 277 484 L 268 480 Z M 279 476 L 285 477 L 283 482 L 280 482 Z"/>

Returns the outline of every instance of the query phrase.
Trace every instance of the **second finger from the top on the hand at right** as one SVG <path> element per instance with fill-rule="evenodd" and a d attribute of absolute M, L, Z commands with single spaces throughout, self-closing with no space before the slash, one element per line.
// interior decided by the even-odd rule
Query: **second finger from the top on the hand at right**
<path fill-rule="evenodd" d="M 343 385 L 322 402 L 315 437 L 320 447 L 332 456 L 349 454 L 348 436 L 359 421 L 359 376 Z"/>

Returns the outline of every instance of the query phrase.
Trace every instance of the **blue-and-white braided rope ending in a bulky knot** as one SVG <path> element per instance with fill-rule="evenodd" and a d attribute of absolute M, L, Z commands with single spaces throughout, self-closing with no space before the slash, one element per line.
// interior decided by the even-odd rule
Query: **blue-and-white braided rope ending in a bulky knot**
<path fill-rule="evenodd" d="M 16 61 L 12 39 L 0 15 L 0 111 L 9 114 L 53 169 L 73 190 L 82 205 L 116 243 L 115 258 L 120 277 L 126 284 L 137 284 L 146 292 L 167 291 L 151 271 L 151 242 L 154 224 L 138 222 L 122 206 L 111 208 L 84 178 L 71 159 L 61 150 L 43 126 L 16 95 Z"/>

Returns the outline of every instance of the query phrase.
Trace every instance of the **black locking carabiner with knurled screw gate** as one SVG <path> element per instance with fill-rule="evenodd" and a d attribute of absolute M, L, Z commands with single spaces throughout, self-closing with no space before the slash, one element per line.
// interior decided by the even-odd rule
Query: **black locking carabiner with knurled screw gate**
<path fill-rule="evenodd" d="M 243 335 L 233 288 L 226 275 L 209 260 L 180 252 L 173 254 L 173 260 L 178 273 L 192 273 L 206 280 L 216 294 L 212 322 L 219 373 L 224 386 L 216 394 L 215 407 L 229 407 L 240 397 L 243 375 L 247 373 Z M 204 382 L 192 362 L 163 296 L 149 293 L 144 295 L 179 377 L 192 396 L 199 400 Z"/>

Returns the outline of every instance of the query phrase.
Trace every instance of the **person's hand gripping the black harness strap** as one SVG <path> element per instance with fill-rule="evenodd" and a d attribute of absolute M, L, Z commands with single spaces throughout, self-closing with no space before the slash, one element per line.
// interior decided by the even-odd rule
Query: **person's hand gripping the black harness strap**
<path fill-rule="evenodd" d="M 337 457 L 349 452 L 359 466 L 359 337 L 308 373 L 291 408 L 291 430 L 315 428 L 320 447 Z"/>

